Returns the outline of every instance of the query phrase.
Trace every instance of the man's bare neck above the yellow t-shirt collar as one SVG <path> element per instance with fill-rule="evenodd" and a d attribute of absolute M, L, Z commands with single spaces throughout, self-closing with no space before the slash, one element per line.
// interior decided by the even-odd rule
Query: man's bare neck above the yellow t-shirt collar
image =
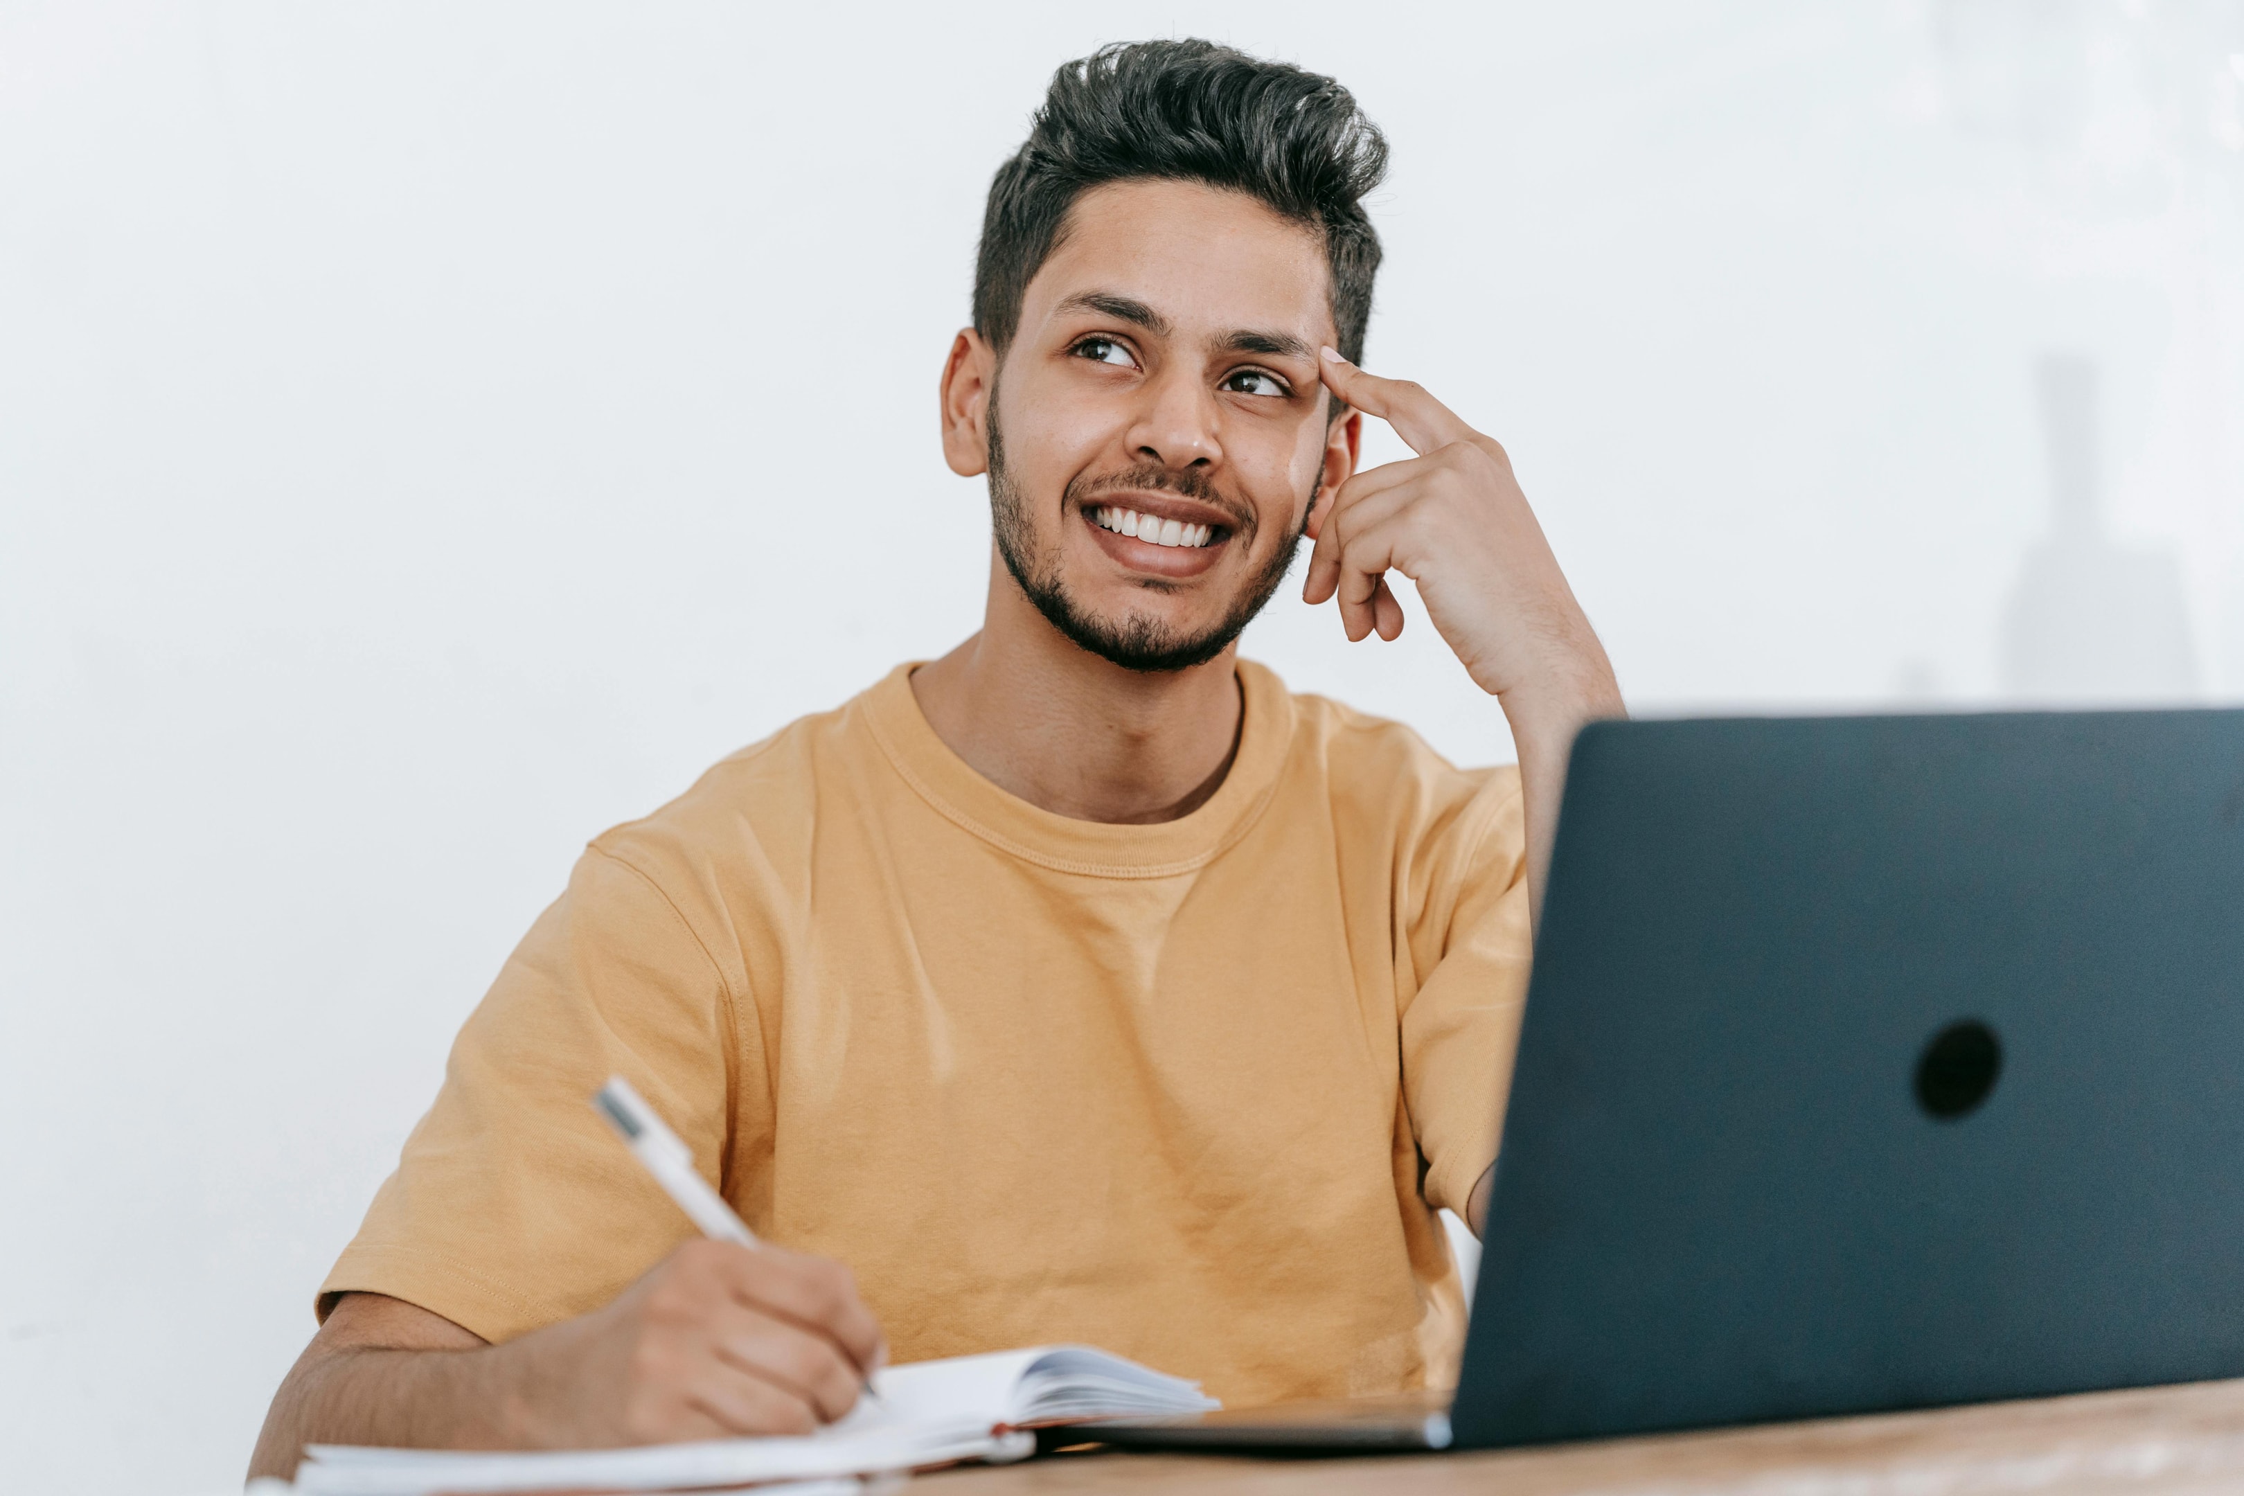
<path fill-rule="evenodd" d="M 1192 671 L 1124 671 L 990 576 L 983 630 L 911 675 L 936 736 L 1019 798 L 1077 821 L 1149 825 L 1223 785 L 1243 720 L 1234 648 Z"/>

